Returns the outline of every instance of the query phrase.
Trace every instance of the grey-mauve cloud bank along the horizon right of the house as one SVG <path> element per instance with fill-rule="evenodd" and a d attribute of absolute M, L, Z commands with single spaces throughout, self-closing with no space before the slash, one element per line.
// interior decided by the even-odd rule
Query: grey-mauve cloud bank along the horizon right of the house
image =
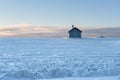
<path fill-rule="evenodd" d="M 120 37 L 120 27 L 111 28 L 99 28 L 99 29 L 89 29 L 85 30 L 86 37 Z"/>

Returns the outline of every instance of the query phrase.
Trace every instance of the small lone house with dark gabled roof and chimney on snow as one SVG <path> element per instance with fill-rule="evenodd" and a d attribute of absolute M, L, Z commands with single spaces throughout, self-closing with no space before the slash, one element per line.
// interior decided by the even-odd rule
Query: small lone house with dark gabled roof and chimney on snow
<path fill-rule="evenodd" d="M 69 38 L 82 38 L 82 31 L 79 30 L 77 27 L 72 25 L 72 29 L 68 31 Z"/>

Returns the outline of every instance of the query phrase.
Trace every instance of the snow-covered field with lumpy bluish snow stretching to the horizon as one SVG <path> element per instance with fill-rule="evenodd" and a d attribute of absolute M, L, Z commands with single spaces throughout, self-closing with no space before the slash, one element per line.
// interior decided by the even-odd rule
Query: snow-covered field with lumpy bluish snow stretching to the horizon
<path fill-rule="evenodd" d="M 120 38 L 0 38 L 0 80 L 120 80 Z"/>

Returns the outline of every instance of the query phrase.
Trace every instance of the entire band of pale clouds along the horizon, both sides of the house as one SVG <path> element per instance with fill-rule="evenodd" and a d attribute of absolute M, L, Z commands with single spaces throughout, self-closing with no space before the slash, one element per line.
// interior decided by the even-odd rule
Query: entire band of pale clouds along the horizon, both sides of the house
<path fill-rule="evenodd" d="M 120 37 L 120 27 L 112 28 L 83 28 L 78 27 L 83 31 L 83 37 Z M 35 26 L 35 25 L 12 25 L 0 27 L 0 37 L 36 37 L 36 38 L 64 38 L 68 37 L 68 31 L 71 26 Z"/>

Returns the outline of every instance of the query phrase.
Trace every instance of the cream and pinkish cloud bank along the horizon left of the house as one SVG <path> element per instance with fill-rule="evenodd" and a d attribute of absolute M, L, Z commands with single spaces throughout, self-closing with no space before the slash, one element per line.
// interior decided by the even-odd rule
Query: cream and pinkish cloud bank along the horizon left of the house
<path fill-rule="evenodd" d="M 0 27 L 0 37 L 62 37 L 65 28 L 55 26 L 13 25 Z"/>

